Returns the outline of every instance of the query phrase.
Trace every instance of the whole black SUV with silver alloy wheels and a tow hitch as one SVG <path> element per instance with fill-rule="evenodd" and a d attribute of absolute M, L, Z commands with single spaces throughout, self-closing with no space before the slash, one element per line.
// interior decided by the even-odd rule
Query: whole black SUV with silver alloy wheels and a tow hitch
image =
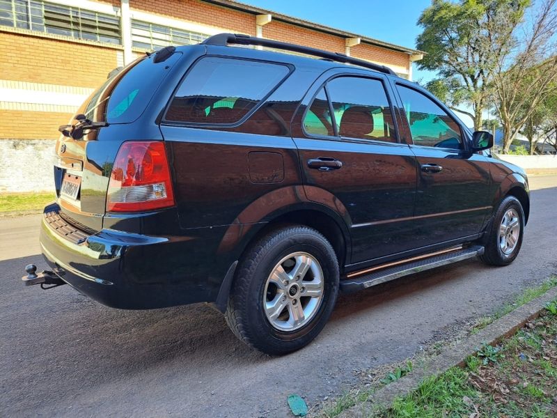
<path fill-rule="evenodd" d="M 228 45 L 260 45 L 301 54 Z M 480 256 L 507 265 L 523 170 L 382 65 L 223 33 L 111 73 L 61 127 L 52 271 L 109 307 L 212 302 L 266 353 L 308 344 L 338 291 Z"/>

